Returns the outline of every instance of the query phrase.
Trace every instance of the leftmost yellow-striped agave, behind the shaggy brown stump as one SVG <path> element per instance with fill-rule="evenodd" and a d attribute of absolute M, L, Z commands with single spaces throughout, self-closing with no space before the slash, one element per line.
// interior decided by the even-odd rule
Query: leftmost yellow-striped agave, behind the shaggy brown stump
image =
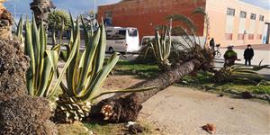
<path fill-rule="evenodd" d="M 19 26 L 23 27 L 21 24 L 23 19 L 21 19 Z M 17 32 L 19 37 L 22 37 L 23 33 Z M 20 35 L 21 34 L 21 35 Z M 32 96 L 43 96 L 49 98 L 52 96 L 61 80 L 64 78 L 65 70 L 71 62 L 71 59 L 75 56 L 75 50 L 70 50 L 69 58 L 58 76 L 55 85 L 52 85 L 53 79 L 57 77 L 57 67 L 60 45 L 53 47 L 52 49 L 47 49 L 47 35 L 43 27 L 43 23 L 40 23 L 40 28 L 38 29 L 37 24 L 32 18 L 32 23 L 27 19 L 26 29 L 25 29 L 25 54 L 30 58 L 30 67 L 26 74 L 27 89 L 28 93 Z M 75 45 L 77 46 L 77 44 Z"/>

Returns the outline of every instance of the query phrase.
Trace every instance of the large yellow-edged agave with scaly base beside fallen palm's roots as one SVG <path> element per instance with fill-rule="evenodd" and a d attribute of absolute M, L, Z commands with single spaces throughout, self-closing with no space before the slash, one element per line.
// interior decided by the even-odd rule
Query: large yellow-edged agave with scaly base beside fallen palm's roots
<path fill-rule="evenodd" d="M 72 17 L 70 17 L 71 20 Z M 63 94 L 58 97 L 58 105 L 55 118 L 61 122 L 82 121 L 91 109 L 94 99 L 103 95 L 121 92 L 143 91 L 139 90 L 101 90 L 105 78 L 112 71 L 119 59 L 119 54 L 114 53 L 107 62 L 104 62 L 106 33 L 104 25 L 101 24 L 97 31 L 86 31 L 86 26 L 82 20 L 85 36 L 85 51 L 79 55 L 80 51 L 75 43 L 80 42 L 79 19 L 76 25 L 72 24 L 71 39 L 66 45 L 67 52 L 61 56 L 63 59 L 69 58 L 72 49 L 76 49 L 75 57 L 67 67 L 66 81 L 61 83 Z M 72 21 L 73 22 L 73 21 Z"/>

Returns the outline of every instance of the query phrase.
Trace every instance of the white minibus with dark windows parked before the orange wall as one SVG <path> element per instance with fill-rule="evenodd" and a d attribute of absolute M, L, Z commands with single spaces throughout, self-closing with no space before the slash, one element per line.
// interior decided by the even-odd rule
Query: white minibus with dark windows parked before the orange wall
<path fill-rule="evenodd" d="M 107 52 L 136 52 L 139 47 L 139 31 L 137 28 L 106 27 Z"/>

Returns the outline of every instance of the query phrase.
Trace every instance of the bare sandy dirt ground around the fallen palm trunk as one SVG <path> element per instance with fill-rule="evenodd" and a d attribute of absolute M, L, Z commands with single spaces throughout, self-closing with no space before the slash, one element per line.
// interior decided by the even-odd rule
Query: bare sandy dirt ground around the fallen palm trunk
<path fill-rule="evenodd" d="M 103 88 L 127 88 L 142 80 L 134 76 L 110 76 Z M 160 134 L 270 134 L 270 105 L 244 99 L 219 97 L 186 87 L 170 86 L 143 104 L 139 121 L 149 121 Z"/>

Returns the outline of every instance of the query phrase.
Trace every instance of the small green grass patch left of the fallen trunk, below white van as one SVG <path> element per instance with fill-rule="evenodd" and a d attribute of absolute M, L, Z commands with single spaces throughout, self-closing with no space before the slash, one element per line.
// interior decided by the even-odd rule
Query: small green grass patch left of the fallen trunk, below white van
<path fill-rule="evenodd" d="M 136 64 L 127 60 L 119 60 L 114 70 L 136 74 L 141 77 L 155 77 L 160 72 L 157 65 Z"/>

